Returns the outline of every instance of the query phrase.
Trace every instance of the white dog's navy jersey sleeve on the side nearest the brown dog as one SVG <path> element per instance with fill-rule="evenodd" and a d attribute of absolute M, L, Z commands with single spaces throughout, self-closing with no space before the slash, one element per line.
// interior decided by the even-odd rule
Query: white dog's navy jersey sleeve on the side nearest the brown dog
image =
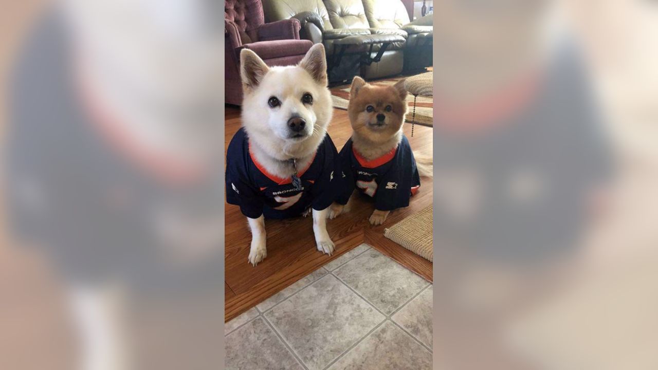
<path fill-rule="evenodd" d="M 340 156 L 328 134 L 320 149 L 323 151 L 322 172 L 311 189 L 311 196 L 313 196 L 311 206 L 316 211 L 329 207 L 338 199 L 344 187 Z"/>

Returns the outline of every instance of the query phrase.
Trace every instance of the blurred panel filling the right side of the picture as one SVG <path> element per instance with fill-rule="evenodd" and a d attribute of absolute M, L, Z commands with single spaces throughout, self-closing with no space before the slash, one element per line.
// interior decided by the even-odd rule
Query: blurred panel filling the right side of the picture
<path fill-rule="evenodd" d="M 434 1 L 435 369 L 658 366 L 656 5 Z"/>

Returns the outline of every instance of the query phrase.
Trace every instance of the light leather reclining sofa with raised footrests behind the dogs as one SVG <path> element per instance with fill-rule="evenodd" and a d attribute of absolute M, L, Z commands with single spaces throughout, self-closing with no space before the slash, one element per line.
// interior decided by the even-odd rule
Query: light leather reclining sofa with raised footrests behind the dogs
<path fill-rule="evenodd" d="M 400 0 L 263 0 L 263 9 L 268 22 L 299 20 L 301 38 L 324 43 L 329 58 L 338 53 L 336 40 L 351 36 L 402 36 L 405 41 L 392 43 L 378 63 L 365 67 L 366 78 L 392 76 L 432 65 L 432 18 L 409 22 L 407 9 Z M 379 45 L 374 45 L 372 56 L 378 50 Z"/>

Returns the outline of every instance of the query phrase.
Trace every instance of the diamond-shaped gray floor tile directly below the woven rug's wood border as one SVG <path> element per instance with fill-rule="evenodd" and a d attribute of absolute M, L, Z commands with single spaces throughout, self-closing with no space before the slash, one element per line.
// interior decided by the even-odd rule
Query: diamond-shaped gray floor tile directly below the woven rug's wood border
<path fill-rule="evenodd" d="M 430 284 L 374 249 L 352 259 L 334 275 L 386 315 Z"/>

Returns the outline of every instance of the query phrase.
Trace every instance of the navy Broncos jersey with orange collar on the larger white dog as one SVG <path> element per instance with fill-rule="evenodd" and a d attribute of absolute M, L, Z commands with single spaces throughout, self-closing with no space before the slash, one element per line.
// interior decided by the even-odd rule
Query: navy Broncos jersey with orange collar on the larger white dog
<path fill-rule="evenodd" d="M 239 205 L 242 214 L 257 219 L 285 219 L 301 215 L 309 207 L 329 207 L 343 188 L 341 161 L 331 138 L 324 136 L 311 164 L 297 169 L 301 190 L 291 178 L 278 178 L 266 171 L 249 151 L 244 128 L 233 136 L 226 154 L 226 201 Z M 338 175 L 338 176 L 337 176 Z"/>

